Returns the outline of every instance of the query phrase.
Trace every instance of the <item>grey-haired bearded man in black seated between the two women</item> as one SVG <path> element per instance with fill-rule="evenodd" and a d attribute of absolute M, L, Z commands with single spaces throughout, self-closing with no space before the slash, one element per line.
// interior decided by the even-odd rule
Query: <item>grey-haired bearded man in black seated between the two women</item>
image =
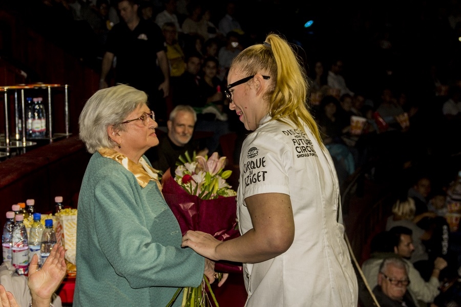
<path fill-rule="evenodd" d="M 173 109 L 166 122 L 168 133 L 160 139 L 158 146 L 144 153 L 155 169 L 164 173 L 170 168 L 173 174 L 179 156 L 184 157 L 186 151 L 190 157 L 194 152 L 200 156 L 208 154 L 207 148 L 199 150 L 199 142 L 192 140 L 196 122 L 197 114 L 190 105 L 180 104 Z"/>

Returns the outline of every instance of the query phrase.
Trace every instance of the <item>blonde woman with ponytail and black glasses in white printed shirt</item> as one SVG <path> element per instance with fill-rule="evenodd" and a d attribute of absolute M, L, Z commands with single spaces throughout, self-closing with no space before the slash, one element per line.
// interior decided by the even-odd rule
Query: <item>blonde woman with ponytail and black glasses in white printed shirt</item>
<path fill-rule="evenodd" d="M 183 246 L 244 263 L 246 306 L 357 306 L 333 162 L 306 106 L 307 78 L 282 37 L 243 50 L 225 93 L 249 134 L 240 155 L 241 236 L 188 231 Z"/>

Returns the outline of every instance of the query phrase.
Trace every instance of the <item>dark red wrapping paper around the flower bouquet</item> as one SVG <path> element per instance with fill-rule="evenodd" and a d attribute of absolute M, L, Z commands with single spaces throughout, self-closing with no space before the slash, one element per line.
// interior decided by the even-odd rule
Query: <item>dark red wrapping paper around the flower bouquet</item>
<path fill-rule="evenodd" d="M 187 230 L 198 230 L 212 234 L 222 241 L 240 235 L 237 228 L 235 196 L 201 199 L 186 192 L 171 176 L 170 169 L 162 177 L 162 194 L 176 216 L 183 235 Z M 215 270 L 227 273 L 242 272 L 242 264 L 217 261 Z"/>

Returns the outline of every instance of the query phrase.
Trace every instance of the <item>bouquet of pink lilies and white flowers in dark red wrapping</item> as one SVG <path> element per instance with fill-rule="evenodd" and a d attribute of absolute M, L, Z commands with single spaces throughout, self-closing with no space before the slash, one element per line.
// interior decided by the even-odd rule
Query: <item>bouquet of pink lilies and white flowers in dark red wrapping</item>
<path fill-rule="evenodd" d="M 196 156 L 179 158 L 174 177 L 166 170 L 162 177 L 162 194 L 178 220 L 182 234 L 187 230 L 199 230 L 212 234 L 219 240 L 227 240 L 240 235 L 237 228 L 236 191 L 231 189 L 226 179 L 231 170 L 224 170 L 226 157 L 219 158 L 214 152 L 209 158 Z M 215 270 L 220 272 L 242 272 L 242 264 L 217 261 Z M 186 288 L 183 294 L 183 306 L 192 300 L 197 306 L 204 306 L 206 289 L 213 292 L 207 279 L 198 288 Z M 179 291 L 179 290 L 178 290 Z M 179 292 L 178 292 L 179 294 Z M 214 299 L 215 304 L 217 304 Z M 201 303 L 200 303 L 201 302 Z"/>

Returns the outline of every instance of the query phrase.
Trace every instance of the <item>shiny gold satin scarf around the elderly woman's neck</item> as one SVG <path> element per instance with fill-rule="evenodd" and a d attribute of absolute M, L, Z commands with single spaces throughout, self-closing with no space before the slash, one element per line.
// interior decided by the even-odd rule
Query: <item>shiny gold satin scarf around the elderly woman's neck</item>
<path fill-rule="evenodd" d="M 158 170 L 152 168 L 147 162 L 145 162 L 144 158 L 141 157 L 141 159 L 139 159 L 139 163 L 136 164 L 120 152 L 111 148 L 101 148 L 98 152 L 102 157 L 117 161 L 123 165 L 124 168 L 131 171 L 141 187 L 145 188 L 149 181 L 155 181 L 160 192 L 162 191 L 162 185 L 158 180 Z"/>

